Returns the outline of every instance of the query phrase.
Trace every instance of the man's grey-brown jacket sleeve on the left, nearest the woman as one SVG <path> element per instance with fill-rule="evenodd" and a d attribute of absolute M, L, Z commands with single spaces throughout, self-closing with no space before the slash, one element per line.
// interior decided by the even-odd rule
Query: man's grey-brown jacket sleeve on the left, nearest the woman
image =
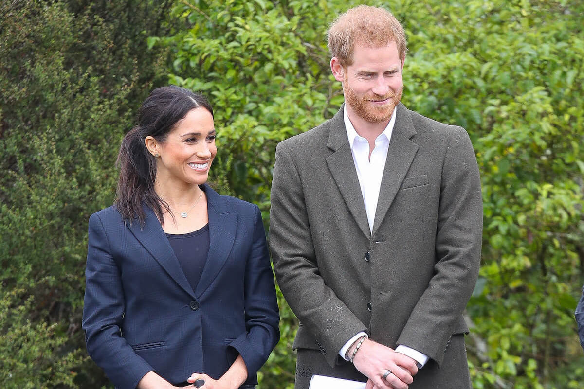
<path fill-rule="evenodd" d="M 280 289 L 290 308 L 310 328 L 326 361 L 335 366 L 340 348 L 367 331 L 320 275 L 301 178 L 283 143 L 276 148 L 270 210 L 270 251 Z"/>

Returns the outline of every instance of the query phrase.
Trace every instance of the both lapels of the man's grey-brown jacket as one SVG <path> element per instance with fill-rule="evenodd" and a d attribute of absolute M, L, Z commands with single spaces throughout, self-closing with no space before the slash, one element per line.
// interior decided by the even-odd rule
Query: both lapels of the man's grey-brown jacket
<path fill-rule="evenodd" d="M 355 169 L 353 155 L 347 139 L 345 121 L 343 120 L 343 106 L 332 117 L 329 123 L 329 139 L 326 146 L 332 150 L 332 154 L 326 157 L 326 164 L 339 187 L 339 191 L 345 200 L 345 204 L 361 232 L 371 239 L 367 212 L 363 202 L 363 195 L 359 187 L 359 178 Z M 408 172 L 413 157 L 418 151 L 418 145 L 410 139 L 416 134 L 408 108 L 398 103 L 394 130 L 391 135 L 390 146 L 387 151 L 383 178 L 377 202 L 373 233 L 376 232 L 383 221 L 402 181 Z"/>

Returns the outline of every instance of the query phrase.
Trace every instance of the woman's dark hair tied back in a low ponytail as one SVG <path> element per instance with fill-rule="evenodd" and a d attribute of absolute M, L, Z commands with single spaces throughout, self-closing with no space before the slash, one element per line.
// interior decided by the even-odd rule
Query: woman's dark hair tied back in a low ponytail
<path fill-rule="evenodd" d="M 117 156 L 120 178 L 115 204 L 124 220 L 138 219 L 144 225 L 146 214 L 142 204 L 149 206 L 161 222 L 163 207 L 170 212 L 168 204 L 154 191 L 156 159 L 148 152 L 144 139 L 150 135 L 165 142 L 175 125 L 190 110 L 200 107 L 213 115 L 205 96 L 175 85 L 154 89 L 144 100 L 138 110 L 138 125 L 124 136 Z"/>

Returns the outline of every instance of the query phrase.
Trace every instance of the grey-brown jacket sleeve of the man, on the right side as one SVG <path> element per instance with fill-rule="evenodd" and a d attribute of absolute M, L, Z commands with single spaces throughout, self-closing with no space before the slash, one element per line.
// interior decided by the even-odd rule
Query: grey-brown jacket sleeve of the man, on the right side
<path fill-rule="evenodd" d="M 397 342 L 439 364 L 477 281 L 482 241 L 481 180 L 463 128 L 454 128 L 443 161 L 434 276 Z"/>

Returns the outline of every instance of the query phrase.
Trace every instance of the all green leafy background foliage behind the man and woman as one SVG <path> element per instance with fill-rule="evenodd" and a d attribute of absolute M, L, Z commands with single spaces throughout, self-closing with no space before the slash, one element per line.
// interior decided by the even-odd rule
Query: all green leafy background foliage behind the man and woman
<path fill-rule="evenodd" d="M 475 388 L 584 387 L 584 3 L 547 0 L 2 0 L 0 386 L 110 387 L 81 330 L 87 222 L 112 204 L 124 132 L 154 87 L 206 93 L 218 190 L 269 223 L 276 143 L 343 101 L 325 38 L 358 3 L 406 29 L 409 108 L 462 125 L 484 236 L 467 308 Z M 260 389 L 293 388 L 297 320 Z M 431 388 L 429 388 L 431 389 Z"/>

